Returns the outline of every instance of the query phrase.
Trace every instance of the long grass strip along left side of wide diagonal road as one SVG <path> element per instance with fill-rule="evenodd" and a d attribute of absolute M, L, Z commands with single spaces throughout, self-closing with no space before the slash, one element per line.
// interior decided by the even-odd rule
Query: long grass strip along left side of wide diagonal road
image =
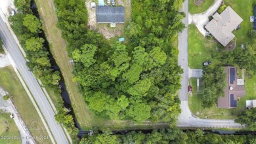
<path fill-rule="evenodd" d="M 32 101 L 11 66 L 0 69 L 0 85 L 11 94 L 11 99 L 33 136 L 48 135 Z M 1 125 L 0 125 L 1 126 Z M 37 143 L 51 143 L 50 139 L 36 139 Z M 1 143 L 1 141 L 0 141 Z"/>

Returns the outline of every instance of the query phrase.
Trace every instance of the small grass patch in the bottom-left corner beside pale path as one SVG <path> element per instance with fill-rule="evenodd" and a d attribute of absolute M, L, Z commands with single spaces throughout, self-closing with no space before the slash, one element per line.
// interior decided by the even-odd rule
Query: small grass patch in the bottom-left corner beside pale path
<path fill-rule="evenodd" d="M 14 139 L 14 137 L 20 137 L 20 132 L 14 120 L 10 117 L 10 113 L 1 113 L 0 114 L 0 143 L 19 144 L 22 142 L 21 139 Z M 5 139 L 5 138 L 9 138 L 9 139 Z"/>

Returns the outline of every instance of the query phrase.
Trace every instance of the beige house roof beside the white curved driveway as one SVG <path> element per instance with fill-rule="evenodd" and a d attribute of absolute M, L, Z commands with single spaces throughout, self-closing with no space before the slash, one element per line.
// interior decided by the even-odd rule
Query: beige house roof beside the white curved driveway
<path fill-rule="evenodd" d="M 211 20 L 205 28 L 221 45 L 226 46 L 235 37 L 232 31 L 236 29 L 242 21 L 243 19 L 228 6 L 221 14 L 216 12 L 213 15 L 213 20 Z"/>

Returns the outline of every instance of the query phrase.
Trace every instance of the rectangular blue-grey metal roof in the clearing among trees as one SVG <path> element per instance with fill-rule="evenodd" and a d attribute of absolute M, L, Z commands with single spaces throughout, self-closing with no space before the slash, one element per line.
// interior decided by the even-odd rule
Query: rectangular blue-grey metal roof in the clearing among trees
<path fill-rule="evenodd" d="M 96 22 L 98 23 L 124 23 L 125 8 L 103 6 L 96 7 Z"/>

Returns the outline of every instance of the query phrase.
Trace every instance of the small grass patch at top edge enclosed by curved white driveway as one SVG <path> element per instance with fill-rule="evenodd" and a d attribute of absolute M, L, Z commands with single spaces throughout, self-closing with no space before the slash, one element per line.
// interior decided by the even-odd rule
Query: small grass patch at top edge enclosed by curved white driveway
<path fill-rule="evenodd" d="M 207 10 L 212 4 L 214 0 L 203 0 L 203 3 L 200 6 L 197 6 L 194 3 L 194 0 L 188 0 L 188 12 L 190 14 L 198 14 Z"/>

